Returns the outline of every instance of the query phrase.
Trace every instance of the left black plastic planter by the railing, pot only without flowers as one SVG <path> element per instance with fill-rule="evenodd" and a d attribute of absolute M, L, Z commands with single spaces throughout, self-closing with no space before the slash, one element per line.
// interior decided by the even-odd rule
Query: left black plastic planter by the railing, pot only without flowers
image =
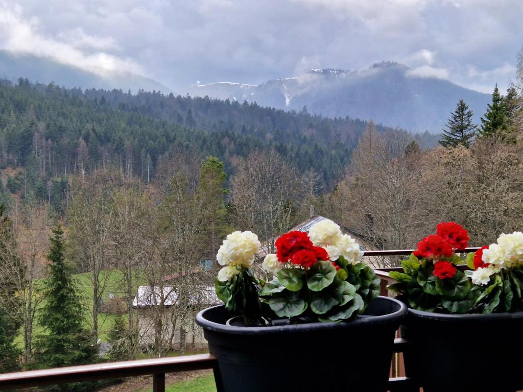
<path fill-rule="evenodd" d="M 394 332 L 406 311 L 400 301 L 378 297 L 349 322 L 232 327 L 220 305 L 202 310 L 196 322 L 218 359 L 219 391 L 385 391 Z"/>

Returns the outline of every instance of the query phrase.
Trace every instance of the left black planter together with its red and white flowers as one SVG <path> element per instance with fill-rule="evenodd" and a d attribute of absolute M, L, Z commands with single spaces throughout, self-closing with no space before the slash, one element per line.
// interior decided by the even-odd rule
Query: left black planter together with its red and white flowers
<path fill-rule="evenodd" d="M 218 360 L 218 389 L 385 391 L 406 306 L 378 296 L 359 245 L 332 221 L 275 245 L 261 264 L 268 280 L 253 272 L 255 234 L 234 232 L 218 251 L 224 305 L 196 317 Z"/>

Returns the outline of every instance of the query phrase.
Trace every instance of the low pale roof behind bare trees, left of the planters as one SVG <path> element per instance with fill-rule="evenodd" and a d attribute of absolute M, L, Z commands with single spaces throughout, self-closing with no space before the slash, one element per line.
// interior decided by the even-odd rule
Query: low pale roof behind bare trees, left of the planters
<path fill-rule="evenodd" d="M 150 307 L 160 305 L 164 298 L 164 306 L 176 305 L 178 301 L 178 293 L 174 286 L 163 286 L 163 293 L 160 286 L 154 286 L 154 293 L 151 291 L 151 286 L 138 287 L 138 293 L 133 299 L 133 307 Z M 212 285 L 197 285 L 194 291 L 189 295 L 189 305 L 219 305 L 222 302 L 216 296 L 214 286 Z"/>

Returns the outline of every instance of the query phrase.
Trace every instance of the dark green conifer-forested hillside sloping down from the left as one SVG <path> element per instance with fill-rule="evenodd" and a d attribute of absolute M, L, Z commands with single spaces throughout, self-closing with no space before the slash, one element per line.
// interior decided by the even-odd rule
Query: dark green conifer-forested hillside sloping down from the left
<path fill-rule="evenodd" d="M 229 174 L 238 157 L 275 148 L 300 171 L 313 169 L 326 187 L 343 177 L 367 122 L 262 108 L 256 103 L 121 90 L 66 89 L 54 84 L 0 85 L 0 164 L 9 193 L 60 209 L 68 174 L 116 166 L 149 182 L 174 149 L 219 157 Z M 378 131 L 386 128 L 377 126 Z M 402 131 L 397 131 L 402 132 Z M 430 134 L 419 144 L 434 143 Z M 25 170 L 20 170 L 24 168 Z"/>

